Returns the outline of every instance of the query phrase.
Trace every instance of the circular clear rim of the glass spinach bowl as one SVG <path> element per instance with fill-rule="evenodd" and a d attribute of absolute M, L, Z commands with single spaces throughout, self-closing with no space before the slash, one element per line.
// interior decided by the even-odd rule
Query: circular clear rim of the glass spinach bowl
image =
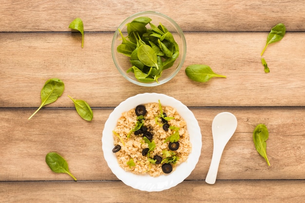
<path fill-rule="evenodd" d="M 181 38 L 181 42 L 182 42 L 182 46 L 183 46 L 183 53 L 179 53 L 181 55 L 181 60 L 179 61 L 179 63 L 177 64 L 177 68 L 175 69 L 174 72 L 172 72 L 172 74 L 170 74 L 167 78 L 165 79 L 162 79 L 162 76 L 161 76 L 161 81 L 159 82 L 151 82 L 151 83 L 144 83 L 144 82 L 140 82 L 138 80 L 134 80 L 133 78 L 127 76 L 127 74 L 121 70 L 119 68 L 119 65 L 117 64 L 116 62 L 116 59 L 115 59 L 115 54 L 114 52 L 116 51 L 116 47 L 114 47 L 114 44 L 115 44 L 115 41 L 116 41 L 116 36 L 119 35 L 119 31 L 118 29 L 121 28 L 121 27 L 124 27 L 132 18 L 136 18 L 136 17 L 139 17 L 139 16 L 144 16 L 144 15 L 157 15 L 157 16 L 161 16 L 162 18 L 165 18 L 167 19 L 168 21 L 170 21 L 170 23 L 172 23 L 172 25 L 174 26 L 175 30 L 177 31 L 179 37 Z M 176 74 L 178 74 L 178 72 L 180 71 L 180 69 L 182 68 L 183 64 L 184 64 L 184 61 L 185 61 L 185 58 L 186 58 L 186 53 L 187 53 L 187 43 L 186 43 L 186 39 L 185 39 L 185 36 L 184 36 L 184 33 L 182 31 L 182 29 L 180 28 L 180 26 L 172 19 L 170 18 L 169 16 L 165 15 L 165 14 L 162 14 L 160 12 L 156 12 L 156 11 L 142 11 L 142 12 L 138 12 L 138 13 L 135 13 L 131 16 L 129 16 L 128 18 L 126 18 L 118 27 L 117 29 L 115 30 L 114 32 L 114 37 L 112 39 L 112 45 L 111 45 L 111 52 L 112 52 L 112 58 L 113 58 L 113 61 L 114 61 L 114 65 L 116 67 L 116 69 L 119 71 L 119 73 L 125 78 L 127 79 L 128 81 L 132 82 L 133 84 L 136 84 L 136 85 L 139 85 L 139 86 L 144 86 L 144 87 L 154 87 L 154 86 L 159 86 L 159 85 L 162 85 L 168 81 L 170 81 Z"/>

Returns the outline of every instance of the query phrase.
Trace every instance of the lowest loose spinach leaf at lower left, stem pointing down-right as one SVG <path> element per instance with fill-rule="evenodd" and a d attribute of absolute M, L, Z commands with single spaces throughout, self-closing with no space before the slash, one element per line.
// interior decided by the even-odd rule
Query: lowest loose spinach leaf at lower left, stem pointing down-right
<path fill-rule="evenodd" d="M 66 160 L 56 152 L 48 153 L 45 157 L 45 162 L 52 171 L 56 173 L 67 173 L 76 181 L 76 178 L 69 171 L 68 163 Z"/>

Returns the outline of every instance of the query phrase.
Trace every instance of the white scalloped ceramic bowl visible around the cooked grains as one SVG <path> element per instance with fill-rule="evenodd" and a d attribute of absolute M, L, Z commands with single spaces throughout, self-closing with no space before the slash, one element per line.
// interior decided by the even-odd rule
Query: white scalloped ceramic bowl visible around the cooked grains
<path fill-rule="evenodd" d="M 116 122 L 121 117 L 123 112 L 129 111 L 139 104 L 147 104 L 152 102 L 158 103 L 158 100 L 160 100 L 162 106 L 171 106 L 175 108 L 187 122 L 187 129 L 190 134 L 190 141 L 192 145 L 191 153 L 189 154 L 188 159 L 178 165 L 170 174 L 152 177 L 148 174 L 137 175 L 130 171 L 125 171 L 118 165 L 116 155 L 112 152 L 112 149 L 114 148 L 114 137 L 112 131 L 116 126 Z M 193 113 L 180 101 L 174 99 L 173 97 L 159 93 L 137 94 L 120 103 L 109 115 L 109 118 L 105 123 L 102 136 L 104 158 L 112 172 L 126 185 L 143 191 L 161 191 L 176 186 L 184 181 L 195 168 L 200 157 L 201 147 L 201 131 Z"/>

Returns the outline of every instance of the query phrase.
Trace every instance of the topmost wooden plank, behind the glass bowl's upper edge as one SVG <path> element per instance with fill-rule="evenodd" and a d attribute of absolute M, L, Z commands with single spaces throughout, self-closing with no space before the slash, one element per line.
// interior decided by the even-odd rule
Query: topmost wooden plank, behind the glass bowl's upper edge
<path fill-rule="evenodd" d="M 303 0 L 2 0 L 0 32 L 70 32 L 74 18 L 83 20 L 86 32 L 113 32 L 146 10 L 170 16 L 184 31 L 270 31 L 279 22 L 288 31 L 305 31 Z"/>

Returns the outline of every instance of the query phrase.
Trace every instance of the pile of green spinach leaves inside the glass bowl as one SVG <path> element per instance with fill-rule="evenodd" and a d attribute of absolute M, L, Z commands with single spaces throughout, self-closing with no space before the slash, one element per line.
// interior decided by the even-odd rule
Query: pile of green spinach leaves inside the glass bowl
<path fill-rule="evenodd" d="M 135 78 L 144 83 L 158 82 L 163 70 L 171 68 L 179 56 L 179 46 L 172 33 L 160 23 L 157 27 L 148 17 L 135 18 L 127 23 L 128 36 L 122 32 L 122 43 L 117 52 L 130 57 L 131 68 Z M 150 25 L 151 28 L 147 28 Z"/>

